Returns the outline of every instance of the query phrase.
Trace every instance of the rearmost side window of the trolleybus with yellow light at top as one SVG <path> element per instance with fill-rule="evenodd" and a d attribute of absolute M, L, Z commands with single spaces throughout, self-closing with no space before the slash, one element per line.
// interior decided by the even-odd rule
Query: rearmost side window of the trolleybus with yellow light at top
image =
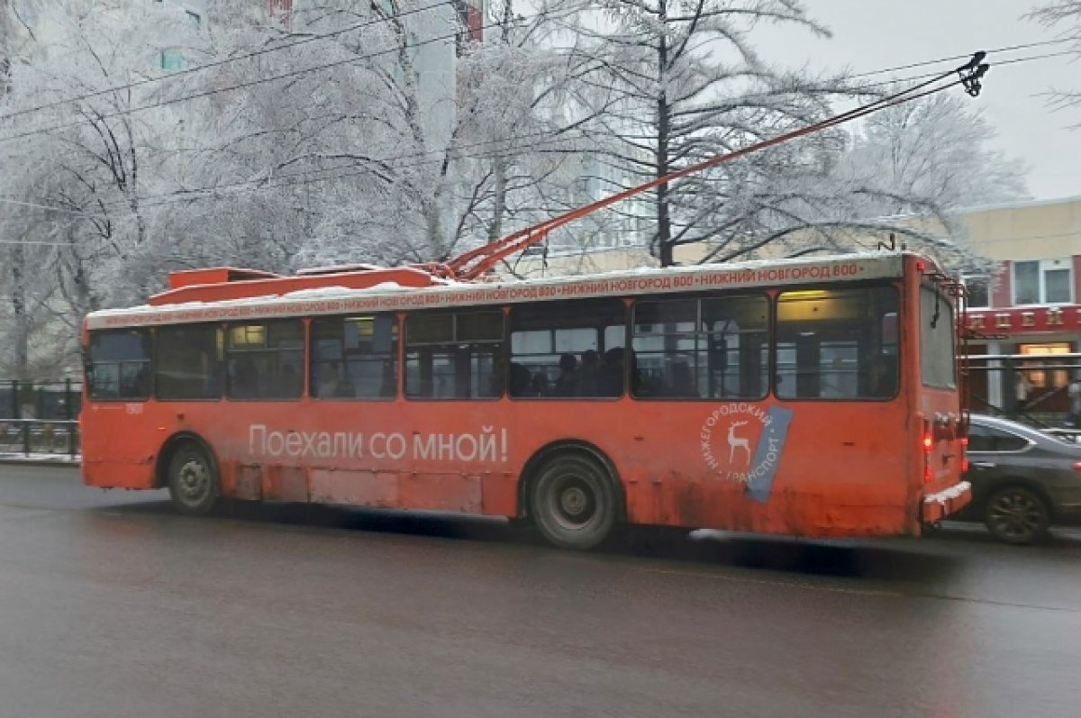
<path fill-rule="evenodd" d="M 888 399 L 897 393 L 897 290 L 800 290 L 777 297 L 782 399 Z"/>

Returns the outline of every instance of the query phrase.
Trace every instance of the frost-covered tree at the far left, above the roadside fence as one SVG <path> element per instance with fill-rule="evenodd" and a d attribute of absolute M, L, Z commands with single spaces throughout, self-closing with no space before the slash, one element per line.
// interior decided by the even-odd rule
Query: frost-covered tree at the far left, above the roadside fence
<path fill-rule="evenodd" d="M 85 311 L 148 288 L 141 197 L 162 127 L 132 111 L 146 93 L 109 89 L 155 71 L 160 39 L 186 27 L 179 11 L 135 0 L 39 0 L 34 11 L 0 101 L 0 197 L 22 202 L 9 201 L 3 223 L 16 337 L 35 306 L 19 285 L 23 262 L 38 308 L 59 313 L 71 335 Z M 29 248 L 50 250 L 29 261 Z M 28 361 L 17 343 L 15 371 Z"/>

